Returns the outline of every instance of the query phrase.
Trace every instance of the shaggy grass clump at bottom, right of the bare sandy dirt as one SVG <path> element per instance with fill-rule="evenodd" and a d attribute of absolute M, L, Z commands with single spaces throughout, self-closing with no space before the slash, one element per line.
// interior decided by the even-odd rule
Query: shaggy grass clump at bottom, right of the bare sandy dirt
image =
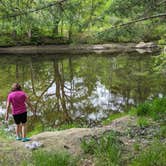
<path fill-rule="evenodd" d="M 113 132 L 101 138 L 83 140 L 81 147 L 85 154 L 94 156 L 96 166 L 113 166 L 121 163 L 122 146 Z"/>

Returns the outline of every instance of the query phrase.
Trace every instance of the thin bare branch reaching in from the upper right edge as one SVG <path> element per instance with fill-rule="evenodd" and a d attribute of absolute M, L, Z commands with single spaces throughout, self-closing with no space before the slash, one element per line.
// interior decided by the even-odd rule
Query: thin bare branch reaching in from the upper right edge
<path fill-rule="evenodd" d="M 150 19 L 154 19 L 154 18 L 158 18 L 158 17 L 166 17 L 166 13 L 160 13 L 160 14 L 157 14 L 157 15 L 152 15 L 152 16 L 148 16 L 148 17 L 143 17 L 143 18 L 140 18 L 140 19 L 137 19 L 137 20 L 132 20 L 132 21 L 129 21 L 129 22 L 127 22 L 127 23 L 123 23 L 123 24 L 119 24 L 119 25 L 116 25 L 116 26 L 112 26 L 112 28 L 119 28 L 119 27 L 122 27 L 122 26 L 134 24 L 134 23 L 136 23 L 136 22 L 145 21 L 145 20 L 150 20 Z"/>

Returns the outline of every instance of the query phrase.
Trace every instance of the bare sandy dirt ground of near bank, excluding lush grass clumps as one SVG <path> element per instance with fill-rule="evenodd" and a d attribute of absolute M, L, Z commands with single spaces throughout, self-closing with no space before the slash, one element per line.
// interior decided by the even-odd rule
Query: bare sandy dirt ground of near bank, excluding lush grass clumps
<path fill-rule="evenodd" d="M 32 136 L 31 141 L 28 143 L 1 138 L 0 163 L 3 165 L 7 164 L 8 166 L 23 165 L 23 163 L 24 165 L 28 163 L 33 165 L 32 157 L 34 153 L 39 155 L 42 152 L 43 155 L 50 154 L 48 156 L 50 159 L 51 154 L 68 154 L 73 158 L 72 161 L 75 161 L 74 165 L 96 165 L 95 163 L 98 159 L 96 159 L 95 154 L 91 151 L 93 151 L 93 147 L 95 148 L 96 143 L 101 138 L 104 138 L 107 142 L 106 138 L 109 138 L 107 136 L 111 135 L 111 138 L 113 140 L 116 138 L 121 147 L 121 152 L 119 151 L 121 153 L 121 159 L 119 160 L 121 161 L 119 162 L 123 161 L 123 165 L 128 165 L 129 163 L 132 165 L 131 161 L 136 155 L 139 155 L 147 147 L 153 145 L 154 138 L 158 139 L 162 146 L 166 144 L 165 135 L 161 134 L 160 131 L 161 124 L 149 118 L 146 119 L 147 121 L 148 123 L 140 122 L 138 117 L 127 115 L 115 119 L 110 124 L 102 127 L 71 128 L 62 131 L 39 133 Z M 115 135 L 116 137 L 114 138 Z M 42 144 L 42 147 L 35 151 L 27 148 L 27 144 L 31 144 L 34 141 Z M 75 160 L 74 158 L 77 159 Z M 47 160 L 48 158 L 45 162 Z M 42 161 L 42 158 L 40 158 L 41 164 Z M 68 161 L 68 164 L 70 162 Z"/>

